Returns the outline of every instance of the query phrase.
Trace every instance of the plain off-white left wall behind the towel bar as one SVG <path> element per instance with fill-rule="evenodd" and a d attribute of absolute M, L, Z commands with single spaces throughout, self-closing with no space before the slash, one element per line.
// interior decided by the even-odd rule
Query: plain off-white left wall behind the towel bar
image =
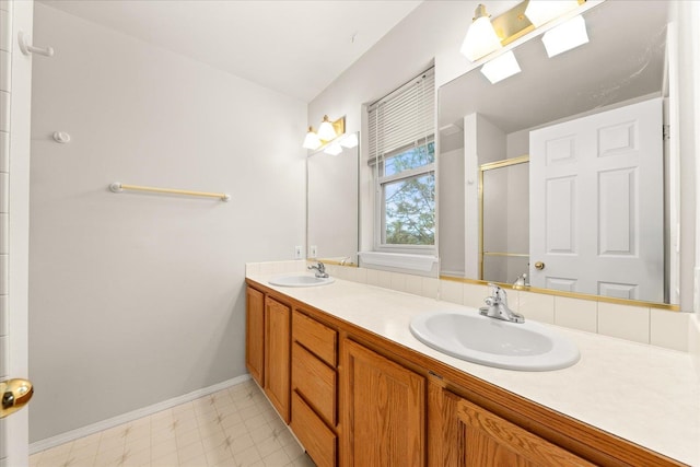
<path fill-rule="evenodd" d="M 42 3 L 34 40 L 56 56 L 34 59 L 33 442 L 246 373 L 244 264 L 305 243 L 307 120 L 305 103 Z"/>

